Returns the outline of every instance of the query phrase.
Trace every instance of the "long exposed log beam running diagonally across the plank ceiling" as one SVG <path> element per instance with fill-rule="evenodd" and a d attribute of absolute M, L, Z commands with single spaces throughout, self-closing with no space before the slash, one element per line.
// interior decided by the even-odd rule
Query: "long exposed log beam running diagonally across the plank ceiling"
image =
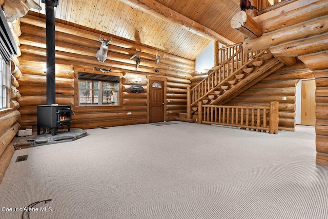
<path fill-rule="evenodd" d="M 154 1 L 154 0 L 119 0 L 133 8 L 153 15 L 163 21 L 186 29 L 194 34 L 210 39 L 211 41 L 219 41 L 225 45 L 235 44 L 226 37 L 221 36 L 217 32 L 193 21 L 192 19 L 179 14 L 178 12 Z"/>

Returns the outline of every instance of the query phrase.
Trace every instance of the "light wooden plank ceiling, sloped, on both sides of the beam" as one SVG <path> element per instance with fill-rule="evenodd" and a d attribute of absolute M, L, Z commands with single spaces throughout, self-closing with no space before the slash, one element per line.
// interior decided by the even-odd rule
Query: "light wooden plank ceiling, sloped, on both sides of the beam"
<path fill-rule="evenodd" d="M 45 17 L 45 4 L 34 0 L 42 11 L 30 14 Z M 192 19 L 235 43 L 243 36 L 230 27 L 240 8 L 237 0 L 156 0 L 156 2 Z M 116 38 L 194 60 L 210 43 L 198 36 L 118 0 L 60 0 L 55 8 L 57 22 L 91 30 Z M 95 39 L 97 41 L 97 39 Z"/>

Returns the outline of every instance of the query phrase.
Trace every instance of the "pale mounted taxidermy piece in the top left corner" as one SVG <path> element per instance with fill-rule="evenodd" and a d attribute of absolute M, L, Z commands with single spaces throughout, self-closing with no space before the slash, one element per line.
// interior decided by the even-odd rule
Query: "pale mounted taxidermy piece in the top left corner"
<path fill-rule="evenodd" d="M 0 2 L 4 2 L 2 8 L 5 11 L 7 22 L 13 22 L 16 18 L 23 17 L 31 8 L 42 9 L 33 0 L 5 0 Z"/>

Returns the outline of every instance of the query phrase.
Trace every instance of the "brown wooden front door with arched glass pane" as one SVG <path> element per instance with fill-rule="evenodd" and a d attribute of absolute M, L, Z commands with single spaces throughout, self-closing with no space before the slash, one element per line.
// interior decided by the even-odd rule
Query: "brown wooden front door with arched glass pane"
<path fill-rule="evenodd" d="M 164 121 L 164 82 L 149 80 L 149 122 L 158 123 Z"/>

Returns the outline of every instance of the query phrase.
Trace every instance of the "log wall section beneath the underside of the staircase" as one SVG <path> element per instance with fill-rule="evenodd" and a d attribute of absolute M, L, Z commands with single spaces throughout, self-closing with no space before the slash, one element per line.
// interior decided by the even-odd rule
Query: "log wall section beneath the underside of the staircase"
<path fill-rule="evenodd" d="M 226 105 L 269 106 L 279 102 L 279 130 L 295 131 L 296 84 L 301 78 L 313 77 L 312 71 L 302 62 L 284 66 L 244 91 Z"/>

